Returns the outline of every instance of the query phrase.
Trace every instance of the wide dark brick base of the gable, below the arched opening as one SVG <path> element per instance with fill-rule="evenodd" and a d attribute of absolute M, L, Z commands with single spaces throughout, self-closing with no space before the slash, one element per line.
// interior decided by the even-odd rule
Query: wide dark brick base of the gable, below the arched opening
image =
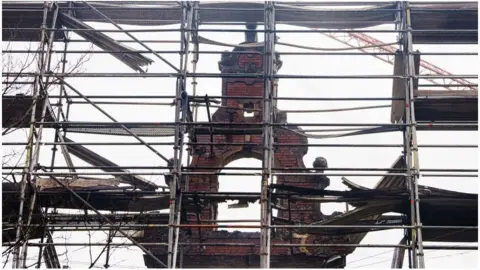
<path fill-rule="evenodd" d="M 166 232 L 166 230 L 165 230 Z M 145 235 L 152 237 L 153 235 Z M 165 237 L 166 234 L 162 235 Z M 156 238 L 160 240 L 161 238 Z M 258 268 L 260 251 L 260 233 L 259 232 L 228 232 L 228 231 L 209 231 L 202 234 L 202 239 L 196 234 L 190 238 L 184 238 L 182 242 L 188 242 L 191 245 L 184 248 L 183 268 Z M 156 241 L 157 241 L 156 240 Z M 293 239 L 292 243 L 300 243 L 301 239 Z M 310 238 L 307 241 L 311 244 Z M 192 245 L 192 243 L 200 243 Z M 327 267 L 336 268 L 344 265 L 326 265 L 332 254 L 343 257 L 347 251 L 334 250 L 333 252 L 307 248 L 275 247 L 276 244 L 290 243 L 272 238 L 271 248 L 271 267 L 272 268 L 313 268 Z M 323 242 L 322 242 L 323 243 Z M 327 242 L 330 243 L 330 242 Z M 305 248 L 304 248 L 305 249 Z M 168 252 L 163 246 L 152 248 L 155 255 L 162 259 L 166 258 Z M 149 268 L 156 268 L 156 265 L 148 256 L 144 256 L 145 264 Z"/>

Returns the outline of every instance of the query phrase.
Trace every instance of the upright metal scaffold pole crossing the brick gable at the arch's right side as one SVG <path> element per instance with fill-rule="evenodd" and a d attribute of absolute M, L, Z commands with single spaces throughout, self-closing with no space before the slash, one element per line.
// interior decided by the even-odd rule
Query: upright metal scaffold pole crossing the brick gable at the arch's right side
<path fill-rule="evenodd" d="M 264 14 L 264 91 L 263 91 L 263 174 L 261 184 L 261 231 L 260 231 L 260 268 L 270 268 L 270 211 L 268 207 L 268 184 L 272 168 L 272 119 L 275 51 L 275 13 L 274 2 L 265 2 Z"/>

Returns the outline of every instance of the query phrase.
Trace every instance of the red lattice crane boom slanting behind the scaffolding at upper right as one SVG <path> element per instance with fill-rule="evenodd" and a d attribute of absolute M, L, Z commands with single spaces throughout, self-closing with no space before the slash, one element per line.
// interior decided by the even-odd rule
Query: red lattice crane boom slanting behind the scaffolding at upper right
<path fill-rule="evenodd" d="M 330 37 L 338 42 L 341 42 L 349 47 L 357 48 L 360 51 L 371 53 L 396 53 L 397 48 L 385 44 L 382 41 L 373 38 L 364 33 L 323 33 L 327 37 Z M 354 43 L 356 42 L 356 44 Z M 382 55 L 376 54 L 373 57 L 378 58 L 386 63 L 394 64 L 394 56 L 392 55 Z M 436 66 L 427 61 L 420 61 L 420 75 L 441 75 L 441 76 L 450 76 L 453 75 L 450 72 Z M 444 79 L 429 79 L 425 80 L 430 81 L 434 85 L 439 87 L 446 88 L 448 90 L 477 90 L 475 83 L 462 78 L 444 78 Z M 442 83 L 439 83 L 439 80 Z"/>

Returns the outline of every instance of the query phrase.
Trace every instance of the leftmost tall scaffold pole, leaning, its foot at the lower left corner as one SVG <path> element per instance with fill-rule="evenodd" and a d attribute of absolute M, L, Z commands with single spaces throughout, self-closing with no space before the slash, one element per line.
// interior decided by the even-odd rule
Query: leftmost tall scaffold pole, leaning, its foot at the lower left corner
<path fill-rule="evenodd" d="M 40 39 L 40 46 L 39 46 L 39 59 L 38 59 L 38 68 L 39 72 L 42 73 L 43 66 L 44 66 L 44 47 L 45 47 L 45 40 L 46 40 L 46 28 L 47 28 L 47 15 L 48 15 L 48 3 L 44 2 L 43 6 L 43 21 L 40 28 L 41 31 L 41 39 Z M 29 184 L 31 184 L 31 176 L 32 171 L 34 169 L 34 164 L 32 164 L 33 159 L 33 146 L 34 146 L 34 138 L 35 138 L 35 120 L 36 120 L 36 111 L 37 111 L 37 103 L 39 99 L 39 92 L 40 92 L 40 80 L 41 76 L 35 77 L 35 82 L 33 85 L 33 94 L 32 94 L 32 108 L 31 108 L 31 118 L 30 118 L 30 131 L 28 135 L 28 145 L 26 151 L 26 158 L 25 158 L 25 170 L 22 176 L 21 186 L 20 186 L 20 206 L 18 210 L 18 220 L 17 220 L 17 231 L 15 237 L 15 247 L 13 248 L 13 265 L 12 268 L 27 268 L 26 266 L 26 257 L 23 256 L 26 253 L 26 245 L 22 245 L 22 253 L 20 254 L 20 243 L 22 242 L 23 235 L 26 234 L 24 231 L 23 226 L 23 209 L 25 207 L 25 197 L 26 197 L 26 189 Z M 27 239 L 23 239 L 26 242 Z M 22 255 L 22 256 L 20 256 Z"/>

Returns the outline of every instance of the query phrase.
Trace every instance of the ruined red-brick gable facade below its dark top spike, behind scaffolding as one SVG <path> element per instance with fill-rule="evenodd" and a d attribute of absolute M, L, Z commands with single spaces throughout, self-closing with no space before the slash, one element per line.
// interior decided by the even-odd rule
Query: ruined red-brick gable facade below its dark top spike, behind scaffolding
<path fill-rule="evenodd" d="M 262 51 L 263 47 L 245 48 L 236 47 L 234 52 L 240 51 Z M 219 68 L 222 73 L 259 73 L 263 74 L 263 61 L 260 54 L 249 53 L 229 53 L 222 55 L 219 62 Z M 278 70 L 281 67 L 279 57 L 276 57 L 275 66 Z M 222 79 L 222 96 L 225 97 L 262 97 L 264 91 L 263 79 L 250 78 L 224 78 Z M 275 83 L 275 91 L 276 83 Z M 274 103 L 275 104 L 275 103 Z M 213 122 L 225 123 L 261 123 L 263 118 L 263 101 L 261 99 L 223 99 L 222 108 L 219 108 L 212 115 Z M 234 108 L 254 109 L 253 113 L 245 114 L 243 110 Z M 280 111 L 275 113 L 275 122 L 282 123 L 286 121 L 286 114 Z M 228 127 L 228 126 L 226 126 Z M 225 128 L 225 127 L 223 127 Z M 307 139 L 304 136 L 282 128 L 274 129 L 275 143 L 286 144 L 306 144 Z M 209 134 L 198 134 L 194 136 L 197 143 L 210 143 Z M 228 163 L 241 158 L 262 159 L 262 135 L 242 134 L 242 135 L 214 135 L 214 143 L 251 143 L 253 146 L 213 146 L 213 152 L 210 146 L 197 145 L 191 149 L 192 161 L 191 167 L 223 167 Z M 275 147 L 273 167 L 282 168 L 305 168 L 303 156 L 307 153 L 307 147 Z M 200 171 L 200 170 L 197 170 Z M 215 172 L 215 170 L 204 169 L 204 172 Z M 293 185 L 305 188 L 314 188 L 316 181 L 308 176 L 278 176 L 278 184 Z M 181 183 L 182 189 L 185 189 L 185 183 Z M 189 177 L 189 192 L 218 192 L 217 175 L 195 175 Z M 239 190 L 241 192 L 241 190 Z M 292 220 L 301 223 L 310 223 L 315 221 L 313 213 L 313 203 L 310 202 L 291 202 L 290 203 Z M 288 207 L 286 201 L 281 201 L 280 206 L 285 209 Z M 318 208 L 317 208 L 318 209 Z M 189 213 L 189 223 L 196 223 L 196 214 Z M 288 218 L 288 211 L 278 211 L 278 217 Z M 200 218 L 204 220 L 215 220 L 217 218 L 217 205 L 212 204 L 202 209 Z M 166 242 L 168 230 L 155 229 L 144 232 L 143 241 Z M 327 243 L 334 242 L 331 238 L 322 239 L 321 237 L 312 237 L 308 235 L 294 236 L 294 239 L 288 239 L 290 234 L 286 231 L 277 231 L 272 237 L 272 244 L 281 243 Z M 304 237 L 305 239 L 301 239 Z M 183 257 L 183 267 L 202 267 L 202 268 L 257 268 L 259 267 L 259 233 L 246 232 L 227 232 L 214 229 L 202 229 L 201 239 L 198 229 L 192 229 L 191 234 L 181 237 L 181 242 L 191 243 L 227 243 L 228 246 L 191 246 L 185 249 Z M 232 245 L 239 243 L 241 245 Z M 242 246 L 251 244 L 252 246 Z M 165 258 L 167 248 L 165 246 L 150 248 L 159 258 Z M 321 248 L 290 248 L 290 247 L 272 247 L 271 248 L 271 266 L 274 268 L 282 267 L 324 267 L 325 260 L 335 254 L 345 255 L 349 253 L 346 250 L 339 249 L 321 249 Z M 155 264 L 145 257 L 146 265 L 155 267 Z"/>

